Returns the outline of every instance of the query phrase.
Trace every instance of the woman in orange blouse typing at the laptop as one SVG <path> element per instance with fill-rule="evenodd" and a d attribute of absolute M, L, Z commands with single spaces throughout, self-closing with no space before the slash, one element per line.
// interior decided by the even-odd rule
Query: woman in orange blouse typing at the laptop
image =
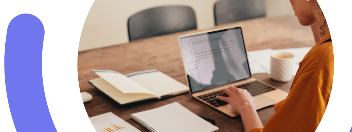
<path fill-rule="evenodd" d="M 334 77 L 334 54 L 325 16 L 316 0 L 290 2 L 301 25 L 317 25 L 321 41 L 300 62 L 287 98 L 274 105 L 276 112 L 265 126 L 255 109 L 256 99 L 245 89 L 230 87 L 218 97 L 241 115 L 245 132 L 313 132 L 328 105 Z"/>

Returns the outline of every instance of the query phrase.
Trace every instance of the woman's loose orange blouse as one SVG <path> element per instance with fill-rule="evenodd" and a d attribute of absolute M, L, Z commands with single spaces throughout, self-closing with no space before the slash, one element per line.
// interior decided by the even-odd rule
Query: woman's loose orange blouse
<path fill-rule="evenodd" d="M 262 128 L 250 132 L 314 132 L 328 105 L 334 79 L 334 50 L 330 33 L 299 63 L 286 99 L 274 105 L 275 113 Z M 322 43 L 322 44 L 321 44 Z"/>

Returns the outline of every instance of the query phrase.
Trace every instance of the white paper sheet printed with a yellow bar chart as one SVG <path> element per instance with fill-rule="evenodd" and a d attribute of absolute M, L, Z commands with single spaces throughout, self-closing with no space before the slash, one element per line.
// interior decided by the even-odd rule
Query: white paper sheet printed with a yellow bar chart
<path fill-rule="evenodd" d="M 90 117 L 89 120 L 96 132 L 141 132 L 112 112 Z"/>

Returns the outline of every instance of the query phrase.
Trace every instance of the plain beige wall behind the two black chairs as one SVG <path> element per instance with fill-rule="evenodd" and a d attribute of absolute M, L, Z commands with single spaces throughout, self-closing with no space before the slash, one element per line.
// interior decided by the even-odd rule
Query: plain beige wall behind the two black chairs
<path fill-rule="evenodd" d="M 196 15 L 198 29 L 213 27 L 216 1 L 218 0 L 95 0 L 82 28 L 78 52 L 128 43 L 128 18 L 158 6 L 191 7 Z M 265 0 L 265 4 L 268 17 L 293 13 L 289 0 Z"/>

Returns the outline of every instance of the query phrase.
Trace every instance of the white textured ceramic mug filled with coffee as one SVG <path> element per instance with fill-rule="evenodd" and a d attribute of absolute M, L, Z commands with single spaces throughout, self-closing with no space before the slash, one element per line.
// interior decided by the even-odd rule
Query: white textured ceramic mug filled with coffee
<path fill-rule="evenodd" d="M 295 67 L 295 55 L 287 52 L 274 51 L 270 56 L 271 79 L 279 82 L 291 81 Z"/>

